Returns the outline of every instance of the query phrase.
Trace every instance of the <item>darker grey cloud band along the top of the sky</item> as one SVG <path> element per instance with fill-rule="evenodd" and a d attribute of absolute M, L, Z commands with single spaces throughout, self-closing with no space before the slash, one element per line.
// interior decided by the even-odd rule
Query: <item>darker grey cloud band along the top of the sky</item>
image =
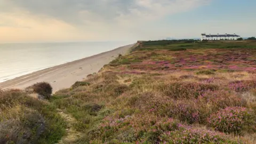
<path fill-rule="evenodd" d="M 120 19 L 155 19 L 189 11 L 210 0 L 0 0 L 0 11 L 23 10 L 31 14 L 54 17 L 66 22 L 87 20 L 115 22 Z M 8 8 L 7 8 L 8 7 Z M 93 18 L 92 18 L 93 17 Z"/>

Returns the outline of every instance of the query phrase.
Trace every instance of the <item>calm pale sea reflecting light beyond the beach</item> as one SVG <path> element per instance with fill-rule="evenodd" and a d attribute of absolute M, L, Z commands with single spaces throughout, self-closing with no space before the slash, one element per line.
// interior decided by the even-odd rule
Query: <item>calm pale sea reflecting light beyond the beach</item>
<path fill-rule="evenodd" d="M 128 44 L 132 42 L 0 44 L 0 82 Z"/>

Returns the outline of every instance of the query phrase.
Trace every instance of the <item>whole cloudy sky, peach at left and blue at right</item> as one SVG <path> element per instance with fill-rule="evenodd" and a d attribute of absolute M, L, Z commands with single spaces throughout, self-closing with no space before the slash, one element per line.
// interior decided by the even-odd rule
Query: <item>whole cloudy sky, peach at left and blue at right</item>
<path fill-rule="evenodd" d="M 0 43 L 256 36 L 255 0 L 0 0 Z"/>

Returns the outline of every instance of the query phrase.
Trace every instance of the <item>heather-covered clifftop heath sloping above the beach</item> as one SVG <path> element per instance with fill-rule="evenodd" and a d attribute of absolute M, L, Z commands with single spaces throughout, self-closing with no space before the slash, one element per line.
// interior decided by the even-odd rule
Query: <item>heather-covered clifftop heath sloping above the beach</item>
<path fill-rule="evenodd" d="M 0 143 L 256 143 L 256 42 L 139 42 L 49 101 L 0 95 Z"/>

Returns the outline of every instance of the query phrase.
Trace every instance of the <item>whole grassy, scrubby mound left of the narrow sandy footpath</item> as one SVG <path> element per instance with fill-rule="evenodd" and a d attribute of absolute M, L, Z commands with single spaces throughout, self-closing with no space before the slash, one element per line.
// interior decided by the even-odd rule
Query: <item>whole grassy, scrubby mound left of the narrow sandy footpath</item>
<path fill-rule="evenodd" d="M 55 143 L 66 133 L 66 122 L 51 103 L 11 90 L 0 92 L 0 105 L 1 143 Z M 15 135 L 17 132 L 21 135 Z"/>

